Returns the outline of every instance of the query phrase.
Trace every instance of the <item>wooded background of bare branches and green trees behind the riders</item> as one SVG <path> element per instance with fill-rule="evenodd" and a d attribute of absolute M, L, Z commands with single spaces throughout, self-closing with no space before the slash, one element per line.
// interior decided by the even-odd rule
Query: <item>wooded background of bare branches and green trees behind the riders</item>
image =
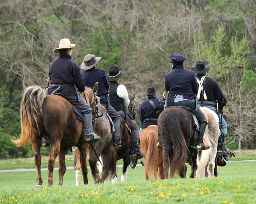
<path fill-rule="evenodd" d="M 169 56 L 186 69 L 203 60 L 227 98 L 231 149 L 256 148 L 255 0 L 2 0 L 0 3 L 0 158 L 30 157 L 17 148 L 20 101 L 26 86 L 42 86 L 53 49 L 76 43 L 72 60 L 93 53 L 97 68 L 119 66 L 137 109 L 155 86 L 162 97 Z"/>

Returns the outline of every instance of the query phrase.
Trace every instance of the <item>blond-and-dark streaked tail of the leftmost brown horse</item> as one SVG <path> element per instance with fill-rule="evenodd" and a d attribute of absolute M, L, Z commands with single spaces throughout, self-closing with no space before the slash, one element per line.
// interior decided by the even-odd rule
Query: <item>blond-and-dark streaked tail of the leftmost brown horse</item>
<path fill-rule="evenodd" d="M 25 147 L 35 141 L 40 134 L 39 125 L 43 124 L 42 106 L 46 93 L 39 86 L 29 86 L 25 89 L 20 103 L 21 137 L 12 140 L 17 147 Z"/>

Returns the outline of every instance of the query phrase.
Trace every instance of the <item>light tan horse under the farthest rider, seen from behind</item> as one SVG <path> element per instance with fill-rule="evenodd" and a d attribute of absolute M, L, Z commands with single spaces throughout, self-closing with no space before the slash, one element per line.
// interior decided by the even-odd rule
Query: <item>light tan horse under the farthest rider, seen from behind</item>
<path fill-rule="evenodd" d="M 156 147 L 157 145 L 157 126 L 150 125 L 144 128 L 140 132 L 140 145 L 141 149 L 145 153 L 143 158 L 143 164 L 145 168 L 145 178 L 156 179 L 157 171 L 158 177 L 163 179 L 163 156 L 161 149 Z"/>

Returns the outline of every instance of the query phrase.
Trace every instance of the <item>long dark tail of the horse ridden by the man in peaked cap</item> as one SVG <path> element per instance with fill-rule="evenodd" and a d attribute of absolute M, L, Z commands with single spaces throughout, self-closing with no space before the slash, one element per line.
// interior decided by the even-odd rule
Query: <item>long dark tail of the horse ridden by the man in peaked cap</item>
<path fill-rule="evenodd" d="M 175 172 L 179 170 L 180 165 L 185 164 L 188 150 L 186 140 L 180 127 L 180 113 L 177 109 L 171 109 L 169 111 L 167 117 L 167 129 L 170 133 L 171 141 L 174 147 L 173 158 L 170 158 L 170 160 L 172 159 L 170 177 L 173 178 Z"/>

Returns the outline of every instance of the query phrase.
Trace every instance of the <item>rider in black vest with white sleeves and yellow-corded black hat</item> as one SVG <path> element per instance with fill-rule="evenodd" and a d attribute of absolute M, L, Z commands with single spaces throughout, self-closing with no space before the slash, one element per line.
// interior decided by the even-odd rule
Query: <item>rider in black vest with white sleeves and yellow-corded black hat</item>
<path fill-rule="evenodd" d="M 110 82 L 109 86 L 109 95 L 110 95 L 110 104 L 111 106 L 116 110 L 116 112 L 125 118 L 125 120 L 131 124 L 131 138 L 132 138 L 132 144 L 131 144 L 131 159 L 139 159 L 143 156 L 140 155 L 139 149 L 138 149 L 138 143 L 139 143 L 139 127 L 134 121 L 133 118 L 130 118 L 130 116 L 127 115 L 125 117 L 125 112 L 127 111 L 127 107 L 130 104 L 130 99 L 128 97 L 127 89 L 124 85 L 119 84 L 120 78 L 125 74 L 125 72 L 119 71 L 119 68 L 117 66 L 112 66 L 107 72 L 106 77 L 107 80 Z"/>

